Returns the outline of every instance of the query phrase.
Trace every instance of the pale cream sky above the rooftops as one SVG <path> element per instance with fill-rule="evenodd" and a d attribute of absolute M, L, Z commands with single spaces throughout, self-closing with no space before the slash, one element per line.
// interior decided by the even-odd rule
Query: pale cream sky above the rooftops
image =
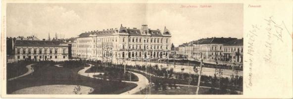
<path fill-rule="evenodd" d="M 161 32 L 166 26 L 175 46 L 201 38 L 243 38 L 243 4 L 8 3 L 6 10 L 7 37 L 70 38 L 120 24 L 138 29 L 147 24 Z"/>

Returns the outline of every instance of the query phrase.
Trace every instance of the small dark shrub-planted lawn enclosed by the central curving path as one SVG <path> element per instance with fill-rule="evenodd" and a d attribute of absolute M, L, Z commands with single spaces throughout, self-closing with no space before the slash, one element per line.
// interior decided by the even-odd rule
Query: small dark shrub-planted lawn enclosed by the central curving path
<path fill-rule="evenodd" d="M 87 73 L 92 73 L 97 71 L 97 66 L 92 66 L 88 69 Z M 106 78 L 109 80 L 117 80 L 117 81 L 130 81 L 130 74 L 131 74 L 131 81 L 139 81 L 139 78 L 130 72 L 124 73 L 123 68 L 118 67 L 101 67 L 98 66 L 98 72 L 105 73 L 104 75 L 94 75 L 94 77 L 98 78 Z"/>

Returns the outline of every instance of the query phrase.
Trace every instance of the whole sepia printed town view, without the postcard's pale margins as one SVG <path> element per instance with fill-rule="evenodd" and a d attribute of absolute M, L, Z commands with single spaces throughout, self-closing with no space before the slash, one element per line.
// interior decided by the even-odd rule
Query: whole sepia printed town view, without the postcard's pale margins
<path fill-rule="evenodd" d="M 6 94 L 243 95 L 241 3 L 6 10 Z"/>

